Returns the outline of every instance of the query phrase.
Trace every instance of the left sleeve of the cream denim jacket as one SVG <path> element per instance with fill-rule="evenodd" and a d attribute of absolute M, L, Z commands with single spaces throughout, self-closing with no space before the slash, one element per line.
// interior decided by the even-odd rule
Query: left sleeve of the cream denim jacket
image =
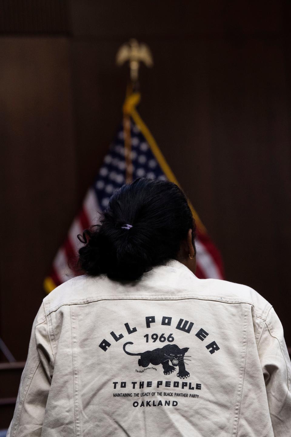
<path fill-rule="evenodd" d="M 27 361 L 21 375 L 14 416 L 7 437 L 41 435 L 53 361 L 47 318 L 41 305 L 32 326 Z"/>

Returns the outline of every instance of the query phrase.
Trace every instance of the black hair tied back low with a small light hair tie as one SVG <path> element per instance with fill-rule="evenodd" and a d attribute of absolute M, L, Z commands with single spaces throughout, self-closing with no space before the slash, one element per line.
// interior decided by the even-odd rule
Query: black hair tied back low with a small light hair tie
<path fill-rule="evenodd" d="M 125 224 L 130 229 L 122 229 Z M 173 182 L 138 178 L 110 198 L 100 220 L 78 235 L 79 267 L 89 275 L 135 280 L 177 256 L 195 222 L 187 199 Z M 195 246 L 194 246 L 195 247 Z"/>

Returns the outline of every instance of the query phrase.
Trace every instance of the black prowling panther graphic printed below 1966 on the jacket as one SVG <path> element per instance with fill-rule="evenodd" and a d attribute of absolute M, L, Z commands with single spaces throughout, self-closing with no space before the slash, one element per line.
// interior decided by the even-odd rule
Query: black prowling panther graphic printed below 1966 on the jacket
<path fill-rule="evenodd" d="M 146 350 L 145 352 L 140 352 L 139 354 L 132 354 L 131 352 L 127 352 L 125 349 L 127 344 L 134 344 L 131 341 L 127 341 L 127 343 L 123 344 L 123 350 L 127 355 L 139 355 L 140 358 L 138 360 L 138 365 L 142 367 L 147 367 L 150 363 L 157 366 L 158 364 L 162 364 L 164 369 L 164 375 L 170 375 L 175 372 L 175 366 L 178 366 L 179 371 L 177 376 L 181 379 L 188 378 L 190 373 L 185 369 L 185 361 L 192 361 L 189 359 L 191 355 L 185 355 L 188 351 L 188 347 L 183 347 L 180 349 L 176 344 L 166 344 L 164 347 L 157 348 L 154 350 Z M 169 364 L 169 361 L 173 364 L 172 366 Z"/>

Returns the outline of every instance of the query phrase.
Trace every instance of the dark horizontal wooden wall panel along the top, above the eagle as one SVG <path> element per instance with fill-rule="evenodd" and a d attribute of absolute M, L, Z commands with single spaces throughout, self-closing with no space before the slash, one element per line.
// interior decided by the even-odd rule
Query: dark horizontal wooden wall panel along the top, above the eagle
<path fill-rule="evenodd" d="M 146 35 L 151 40 L 217 39 L 274 35 L 281 31 L 284 1 L 71 0 L 72 34 L 103 41 Z"/>

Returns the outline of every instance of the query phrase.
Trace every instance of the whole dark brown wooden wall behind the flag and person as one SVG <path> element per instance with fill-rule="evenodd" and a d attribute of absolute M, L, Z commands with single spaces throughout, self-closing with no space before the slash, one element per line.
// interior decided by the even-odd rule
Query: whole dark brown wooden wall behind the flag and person
<path fill-rule="evenodd" d="M 291 345 L 288 1 L 1 1 L 0 336 L 25 360 L 42 281 L 115 129 L 146 42 L 140 113 L 222 252 Z M 3 358 L 3 357 L 2 357 Z M 3 358 L 4 360 L 4 358 Z"/>

